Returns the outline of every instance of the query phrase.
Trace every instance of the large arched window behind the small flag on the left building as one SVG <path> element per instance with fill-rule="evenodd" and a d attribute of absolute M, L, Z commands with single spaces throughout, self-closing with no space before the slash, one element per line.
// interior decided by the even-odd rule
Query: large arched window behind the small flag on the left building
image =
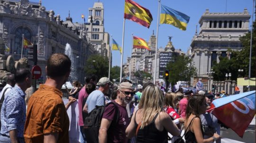
<path fill-rule="evenodd" d="M 31 41 L 31 33 L 28 31 L 27 28 L 19 27 L 15 31 L 15 37 L 14 37 L 14 47 L 12 52 L 14 54 L 21 54 L 21 48 L 22 47 L 22 34 L 24 34 L 24 37 L 27 38 L 27 40 Z M 32 42 L 33 43 L 33 42 Z M 23 49 L 23 54 L 26 55 L 27 49 Z"/>

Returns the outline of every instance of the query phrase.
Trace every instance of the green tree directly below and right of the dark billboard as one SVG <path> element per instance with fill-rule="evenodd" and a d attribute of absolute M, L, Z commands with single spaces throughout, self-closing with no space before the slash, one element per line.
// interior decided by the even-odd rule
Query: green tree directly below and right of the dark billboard
<path fill-rule="evenodd" d="M 192 76 L 196 76 L 196 67 L 191 65 L 192 59 L 183 55 L 174 57 L 174 62 L 169 62 L 166 69 L 169 70 L 169 79 L 172 85 L 178 81 L 189 81 Z M 165 73 L 164 73 L 165 74 Z"/>

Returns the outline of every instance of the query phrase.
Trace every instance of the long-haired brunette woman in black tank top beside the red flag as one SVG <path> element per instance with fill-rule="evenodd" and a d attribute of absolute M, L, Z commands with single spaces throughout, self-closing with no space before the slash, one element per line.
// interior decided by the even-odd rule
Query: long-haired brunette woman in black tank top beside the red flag
<path fill-rule="evenodd" d="M 186 143 L 212 143 L 219 139 L 218 134 L 214 134 L 208 139 L 203 139 L 203 129 L 200 114 L 206 111 L 206 100 L 204 95 L 193 95 L 187 105 L 185 126 Z"/>

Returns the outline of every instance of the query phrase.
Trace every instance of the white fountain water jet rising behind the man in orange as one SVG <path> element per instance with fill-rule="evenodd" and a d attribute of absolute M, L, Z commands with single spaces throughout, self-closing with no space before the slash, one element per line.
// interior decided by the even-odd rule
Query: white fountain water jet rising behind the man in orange
<path fill-rule="evenodd" d="M 71 46 L 69 43 L 66 43 L 65 54 L 71 60 L 71 73 L 69 75 L 69 81 L 73 82 L 73 81 L 77 80 L 77 74 L 76 74 L 76 65 L 75 65 L 72 49 L 71 49 Z"/>

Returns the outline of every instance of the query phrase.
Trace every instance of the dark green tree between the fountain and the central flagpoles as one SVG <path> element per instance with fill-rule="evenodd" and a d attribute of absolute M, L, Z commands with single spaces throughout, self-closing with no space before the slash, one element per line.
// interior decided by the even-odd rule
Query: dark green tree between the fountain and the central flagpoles
<path fill-rule="evenodd" d="M 91 55 L 86 60 L 86 65 L 84 66 L 84 71 L 86 75 L 94 74 L 101 77 L 108 77 L 109 75 L 109 62 L 107 57 L 101 55 Z"/>

